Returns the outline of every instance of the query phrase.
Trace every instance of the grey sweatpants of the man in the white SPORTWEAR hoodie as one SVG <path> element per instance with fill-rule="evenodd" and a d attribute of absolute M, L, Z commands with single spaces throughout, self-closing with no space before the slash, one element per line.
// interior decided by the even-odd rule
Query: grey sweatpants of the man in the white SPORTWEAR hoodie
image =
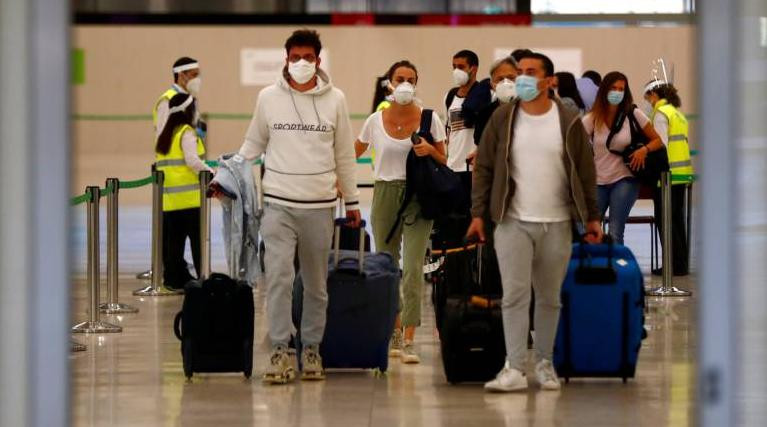
<path fill-rule="evenodd" d="M 301 341 L 317 345 L 325 333 L 328 306 L 328 256 L 333 238 L 333 209 L 298 209 L 267 203 L 261 222 L 266 254 L 266 315 L 272 346 L 287 346 L 293 332 L 293 258 L 298 249 L 304 284 Z"/>

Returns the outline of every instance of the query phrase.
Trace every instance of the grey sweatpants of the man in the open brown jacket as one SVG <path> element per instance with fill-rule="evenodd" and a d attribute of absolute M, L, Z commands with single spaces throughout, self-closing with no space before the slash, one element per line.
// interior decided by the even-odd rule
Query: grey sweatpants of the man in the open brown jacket
<path fill-rule="evenodd" d="M 535 290 L 536 358 L 551 360 L 559 323 L 560 291 L 572 251 L 570 221 L 534 223 L 506 218 L 495 229 L 503 282 L 503 331 L 512 368 L 525 372 L 530 284 Z"/>

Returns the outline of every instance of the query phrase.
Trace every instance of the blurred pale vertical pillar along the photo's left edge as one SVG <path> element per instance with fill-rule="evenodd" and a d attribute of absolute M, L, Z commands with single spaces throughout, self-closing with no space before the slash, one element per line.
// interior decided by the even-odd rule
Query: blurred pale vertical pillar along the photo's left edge
<path fill-rule="evenodd" d="M 0 0 L 0 425 L 69 424 L 69 3 Z"/>

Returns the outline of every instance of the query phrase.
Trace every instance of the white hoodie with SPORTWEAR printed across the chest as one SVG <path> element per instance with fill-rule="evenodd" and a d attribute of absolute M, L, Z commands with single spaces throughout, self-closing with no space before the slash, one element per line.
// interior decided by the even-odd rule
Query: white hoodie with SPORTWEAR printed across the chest
<path fill-rule="evenodd" d="M 286 71 L 256 100 L 240 155 L 266 153 L 264 201 L 302 209 L 333 207 L 338 188 L 347 208 L 359 205 L 354 137 L 346 97 L 317 70 L 317 86 L 290 87 Z"/>

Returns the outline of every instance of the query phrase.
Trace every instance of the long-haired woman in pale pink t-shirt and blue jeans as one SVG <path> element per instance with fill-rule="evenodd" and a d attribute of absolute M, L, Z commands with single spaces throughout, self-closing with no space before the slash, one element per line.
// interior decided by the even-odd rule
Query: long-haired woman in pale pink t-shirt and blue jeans
<path fill-rule="evenodd" d="M 663 148 L 663 142 L 647 116 L 634 105 L 626 76 L 617 71 L 608 73 L 599 85 L 591 112 L 583 117 L 583 126 L 591 136 L 594 146 L 599 210 L 604 218 L 605 212 L 610 209 L 610 235 L 616 243 L 623 244 L 623 230 L 631 208 L 639 196 L 639 182 L 623 163 L 623 157 L 607 149 L 607 138 L 610 129 L 616 125 L 619 112 L 623 112 L 626 119 L 620 130 L 613 135 L 610 150 L 620 152 L 631 143 L 629 114 L 634 115 L 650 141 L 645 148 L 632 155 L 632 169 L 643 168 L 647 153 Z"/>

